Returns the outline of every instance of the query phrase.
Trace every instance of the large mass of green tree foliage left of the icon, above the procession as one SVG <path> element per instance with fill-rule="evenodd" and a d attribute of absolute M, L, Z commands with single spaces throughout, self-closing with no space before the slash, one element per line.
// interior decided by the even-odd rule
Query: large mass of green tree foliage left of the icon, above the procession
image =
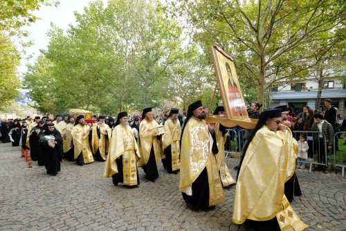
<path fill-rule="evenodd" d="M 172 70 L 179 62 L 185 65 L 185 49 L 181 27 L 167 18 L 160 1 L 109 1 L 107 6 L 95 1 L 75 17 L 76 26 L 66 33 L 53 26 L 48 50 L 26 74 L 37 109 L 115 113 L 158 107 L 167 100 L 168 84 L 177 73 Z M 197 82 L 205 74 L 196 76 L 188 75 L 185 82 Z M 38 80 L 50 86 L 39 86 Z M 46 104 L 48 98 L 54 107 Z"/>

